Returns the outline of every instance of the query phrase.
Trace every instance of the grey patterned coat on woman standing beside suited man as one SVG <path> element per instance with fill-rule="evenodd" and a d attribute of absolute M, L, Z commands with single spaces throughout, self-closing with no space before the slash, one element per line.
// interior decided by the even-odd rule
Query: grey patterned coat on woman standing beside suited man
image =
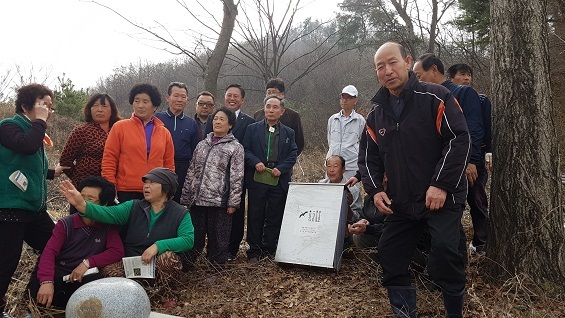
<path fill-rule="evenodd" d="M 209 133 L 196 146 L 180 201 L 189 207 L 239 207 L 245 157 L 243 146 L 231 133 L 212 144 L 213 135 Z"/>

